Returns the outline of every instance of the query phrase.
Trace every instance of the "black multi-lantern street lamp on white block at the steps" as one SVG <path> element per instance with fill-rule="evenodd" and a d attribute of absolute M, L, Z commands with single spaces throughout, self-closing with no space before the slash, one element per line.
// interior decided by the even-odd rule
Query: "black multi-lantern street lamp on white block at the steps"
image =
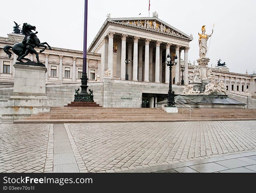
<path fill-rule="evenodd" d="M 170 68 L 170 77 L 169 77 L 169 91 L 167 94 L 167 107 L 175 107 L 174 104 L 174 95 L 175 92 L 172 90 L 172 66 L 176 65 L 178 63 L 178 57 L 177 55 L 174 58 L 174 62 L 172 62 L 172 58 L 168 54 L 165 61 L 166 65 Z"/>

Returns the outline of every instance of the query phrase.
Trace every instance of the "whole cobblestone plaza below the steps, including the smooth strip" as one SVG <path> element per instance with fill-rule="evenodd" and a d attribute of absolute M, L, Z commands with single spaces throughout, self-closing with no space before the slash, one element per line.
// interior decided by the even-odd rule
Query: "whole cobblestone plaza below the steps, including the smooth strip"
<path fill-rule="evenodd" d="M 0 132 L 0 172 L 148 172 L 256 150 L 256 121 L 0 124 Z"/>

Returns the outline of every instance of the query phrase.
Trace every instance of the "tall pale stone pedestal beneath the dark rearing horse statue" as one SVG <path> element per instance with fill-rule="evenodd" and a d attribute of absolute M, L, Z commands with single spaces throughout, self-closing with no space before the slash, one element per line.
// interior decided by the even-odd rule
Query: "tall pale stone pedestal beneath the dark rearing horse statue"
<path fill-rule="evenodd" d="M 2 119 L 17 119 L 38 112 L 49 112 L 45 90 L 44 64 L 16 62 L 13 93 L 2 112 Z"/>

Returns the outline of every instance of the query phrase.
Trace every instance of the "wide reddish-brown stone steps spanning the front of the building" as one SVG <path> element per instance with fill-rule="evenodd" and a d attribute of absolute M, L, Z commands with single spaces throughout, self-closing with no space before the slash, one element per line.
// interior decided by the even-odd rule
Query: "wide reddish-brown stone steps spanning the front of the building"
<path fill-rule="evenodd" d="M 163 109 L 51 107 L 51 112 L 21 118 L 14 123 L 89 123 L 89 122 L 175 122 L 214 120 L 256 120 L 256 109 L 179 109 L 177 114 Z"/>

